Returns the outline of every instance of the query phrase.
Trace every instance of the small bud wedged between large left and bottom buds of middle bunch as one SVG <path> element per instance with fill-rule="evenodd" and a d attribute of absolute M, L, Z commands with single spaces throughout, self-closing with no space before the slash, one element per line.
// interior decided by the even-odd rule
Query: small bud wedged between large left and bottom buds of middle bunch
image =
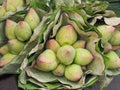
<path fill-rule="evenodd" d="M 59 64 L 59 65 L 57 66 L 57 68 L 56 68 L 54 71 L 52 71 L 52 72 L 53 72 L 53 74 L 56 75 L 56 76 L 63 76 L 63 75 L 64 75 L 64 72 L 65 72 L 65 65 Z"/>

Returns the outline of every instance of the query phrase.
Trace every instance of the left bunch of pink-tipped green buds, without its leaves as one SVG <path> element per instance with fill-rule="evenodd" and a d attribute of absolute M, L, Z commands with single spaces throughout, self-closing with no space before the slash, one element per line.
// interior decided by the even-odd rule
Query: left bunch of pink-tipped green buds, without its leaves
<path fill-rule="evenodd" d="M 33 8 L 29 9 L 24 21 L 15 22 L 11 19 L 6 19 L 5 36 L 8 40 L 7 43 L 0 48 L 0 54 L 3 55 L 0 59 L 0 67 L 8 64 L 23 50 L 31 38 L 33 30 L 39 23 L 40 18 Z"/>

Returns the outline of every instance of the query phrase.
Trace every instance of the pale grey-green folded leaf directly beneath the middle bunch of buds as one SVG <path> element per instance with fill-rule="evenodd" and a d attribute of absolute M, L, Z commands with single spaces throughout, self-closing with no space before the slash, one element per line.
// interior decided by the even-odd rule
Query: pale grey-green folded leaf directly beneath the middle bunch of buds
<path fill-rule="evenodd" d="M 51 72 L 42 72 L 33 68 L 27 68 L 26 72 L 29 77 L 37 80 L 40 83 L 46 84 L 49 82 L 54 83 L 59 81 L 61 85 L 69 86 L 69 89 L 76 89 L 82 87 L 85 80 L 85 77 L 83 77 L 79 82 L 71 82 L 67 80 L 65 77 L 57 77 L 53 75 Z"/>

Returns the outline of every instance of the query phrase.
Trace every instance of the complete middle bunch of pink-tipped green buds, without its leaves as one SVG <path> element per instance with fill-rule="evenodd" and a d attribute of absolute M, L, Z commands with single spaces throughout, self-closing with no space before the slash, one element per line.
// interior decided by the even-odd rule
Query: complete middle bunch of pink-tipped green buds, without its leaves
<path fill-rule="evenodd" d="M 85 45 L 86 41 L 79 39 L 72 25 L 63 26 L 55 39 L 47 41 L 45 51 L 38 56 L 37 68 L 52 71 L 57 76 L 64 75 L 70 81 L 78 81 L 83 70 L 94 59 Z"/>

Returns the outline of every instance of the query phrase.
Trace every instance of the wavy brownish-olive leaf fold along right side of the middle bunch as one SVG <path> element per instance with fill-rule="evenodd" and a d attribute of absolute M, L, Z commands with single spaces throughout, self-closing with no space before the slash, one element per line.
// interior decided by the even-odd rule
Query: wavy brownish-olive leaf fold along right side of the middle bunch
<path fill-rule="evenodd" d="M 96 43 L 98 41 L 99 39 L 96 35 L 91 35 L 86 46 L 94 56 L 94 60 L 88 65 L 88 69 L 92 71 L 93 75 L 102 75 L 105 69 L 104 59 L 102 55 L 96 51 Z"/>

